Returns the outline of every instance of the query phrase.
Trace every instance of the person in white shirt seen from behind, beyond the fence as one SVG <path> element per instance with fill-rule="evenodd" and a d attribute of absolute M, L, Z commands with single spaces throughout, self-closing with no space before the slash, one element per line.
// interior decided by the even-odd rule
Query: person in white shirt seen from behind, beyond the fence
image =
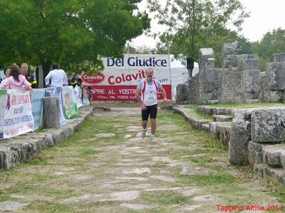
<path fill-rule="evenodd" d="M 63 87 L 64 85 L 68 85 L 68 77 L 66 76 L 66 72 L 58 69 L 57 64 L 53 64 L 52 69 L 53 70 L 48 72 L 48 75 L 45 78 L 46 87 Z"/>

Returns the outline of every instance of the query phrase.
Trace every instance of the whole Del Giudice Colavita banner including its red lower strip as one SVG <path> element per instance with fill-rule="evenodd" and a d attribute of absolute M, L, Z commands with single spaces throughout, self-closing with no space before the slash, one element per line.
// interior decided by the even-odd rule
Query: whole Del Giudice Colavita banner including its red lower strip
<path fill-rule="evenodd" d="M 135 101 L 138 82 L 145 78 L 145 70 L 152 68 L 155 80 L 165 88 L 171 99 L 170 60 L 168 55 L 125 55 L 124 58 L 104 58 L 104 71 L 98 75 L 85 72 L 83 84 L 91 87 L 93 101 Z M 158 99 L 163 99 L 158 93 Z"/>

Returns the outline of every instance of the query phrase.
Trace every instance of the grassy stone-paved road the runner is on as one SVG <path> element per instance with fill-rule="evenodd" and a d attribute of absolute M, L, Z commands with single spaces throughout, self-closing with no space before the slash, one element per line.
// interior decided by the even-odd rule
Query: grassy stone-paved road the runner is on
<path fill-rule="evenodd" d="M 274 185 L 229 165 L 207 133 L 168 111 L 157 122 L 150 143 L 149 131 L 140 138 L 140 109 L 94 111 L 68 141 L 0 173 L 0 212 L 263 212 L 279 204 Z"/>

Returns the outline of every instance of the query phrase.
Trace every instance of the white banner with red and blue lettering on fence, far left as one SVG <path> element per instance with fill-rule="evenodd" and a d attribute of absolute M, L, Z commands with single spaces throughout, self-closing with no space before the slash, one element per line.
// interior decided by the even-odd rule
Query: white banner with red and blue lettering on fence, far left
<path fill-rule="evenodd" d="M 30 92 L 25 89 L 8 89 L 4 111 L 4 138 L 33 131 Z"/>

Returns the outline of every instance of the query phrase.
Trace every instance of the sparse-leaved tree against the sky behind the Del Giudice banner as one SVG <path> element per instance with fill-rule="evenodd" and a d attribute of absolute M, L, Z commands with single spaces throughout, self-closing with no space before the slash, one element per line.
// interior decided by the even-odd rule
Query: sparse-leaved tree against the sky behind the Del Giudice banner
<path fill-rule="evenodd" d="M 167 26 L 163 36 L 171 38 L 175 57 L 183 54 L 196 61 L 199 48 L 209 47 L 211 40 L 227 42 L 229 24 L 240 30 L 249 16 L 239 0 L 167 0 L 165 6 L 159 0 L 147 1 L 158 23 Z"/>

